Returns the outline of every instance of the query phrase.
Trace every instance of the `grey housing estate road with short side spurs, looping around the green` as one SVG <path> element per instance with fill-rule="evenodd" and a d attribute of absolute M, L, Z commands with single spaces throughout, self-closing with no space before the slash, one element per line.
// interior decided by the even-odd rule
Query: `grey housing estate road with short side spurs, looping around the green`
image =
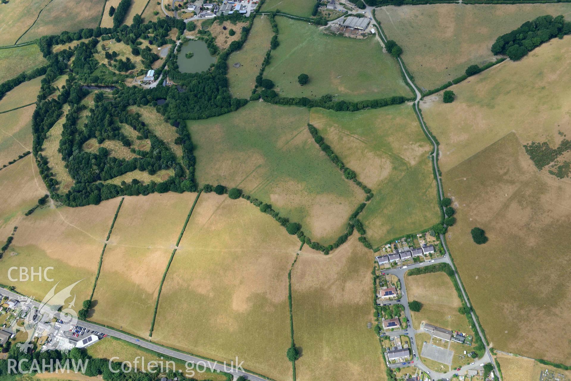
<path fill-rule="evenodd" d="M 482 357 L 481 359 L 478 359 L 478 360 L 474 360 L 474 362 L 476 363 L 474 365 L 469 365 L 469 364 L 465 365 L 465 366 L 461 367 L 459 371 L 452 370 L 449 372 L 440 373 L 440 372 L 431 370 L 430 368 L 425 366 L 422 363 L 422 360 L 420 358 L 419 358 L 419 360 L 416 360 L 416 356 L 420 356 L 420 353 L 419 353 L 419 349 L 418 349 L 418 346 L 416 343 L 415 335 L 417 333 L 423 333 L 424 330 L 421 330 L 421 329 L 415 330 L 414 327 L 412 326 L 412 315 L 411 315 L 411 309 L 408 307 L 409 300 L 408 300 L 407 287 L 404 283 L 404 275 L 408 270 L 416 269 L 417 267 L 436 265 L 436 264 L 439 264 L 442 262 L 451 265 L 450 256 L 447 254 L 446 257 L 436 258 L 435 260 L 425 261 L 425 262 L 422 262 L 420 264 L 408 265 L 406 269 L 404 269 L 403 266 L 401 266 L 401 267 L 395 267 L 394 269 L 381 270 L 381 273 L 384 273 L 386 275 L 389 275 L 389 274 L 395 275 L 399 279 L 399 282 L 401 285 L 401 293 L 402 293 L 401 298 L 398 299 L 398 300 L 400 300 L 400 302 L 397 302 L 396 300 L 391 300 L 391 301 L 384 302 L 383 305 L 384 306 L 385 305 L 392 306 L 395 304 L 403 305 L 404 306 L 404 315 L 407 318 L 407 325 L 408 325 L 408 327 L 404 330 L 388 331 L 385 335 L 388 337 L 399 337 L 401 335 L 407 335 L 411 341 L 411 350 L 414 353 L 414 355 L 413 355 L 414 363 L 407 361 L 406 362 L 407 364 L 403 364 L 403 362 L 396 363 L 396 364 L 388 364 L 388 367 L 391 369 L 395 369 L 395 368 L 399 368 L 399 367 L 402 368 L 405 366 L 416 366 L 417 368 L 419 368 L 423 372 L 430 372 L 431 378 L 436 380 L 436 379 L 450 379 L 455 374 L 459 374 L 459 375 L 467 374 L 468 370 L 481 370 L 481 369 L 483 369 L 483 367 L 479 366 L 479 364 L 492 362 L 491 356 L 488 354 L 488 352 L 486 352 L 484 357 Z"/>

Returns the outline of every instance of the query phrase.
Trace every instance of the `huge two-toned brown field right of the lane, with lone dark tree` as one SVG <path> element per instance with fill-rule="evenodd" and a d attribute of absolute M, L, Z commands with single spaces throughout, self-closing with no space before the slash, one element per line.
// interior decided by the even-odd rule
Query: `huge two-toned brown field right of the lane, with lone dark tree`
<path fill-rule="evenodd" d="M 571 181 L 538 172 L 522 144 L 558 144 L 571 133 L 571 38 L 554 39 L 520 62 L 504 62 L 424 102 L 438 137 L 445 195 L 457 224 L 447 234 L 468 294 L 493 346 L 571 362 Z M 435 99 L 432 99 L 435 98 Z M 486 231 L 473 243 L 469 231 Z M 537 326 L 534 322 L 541 321 Z M 546 331 L 561 339 L 545 341 Z"/>

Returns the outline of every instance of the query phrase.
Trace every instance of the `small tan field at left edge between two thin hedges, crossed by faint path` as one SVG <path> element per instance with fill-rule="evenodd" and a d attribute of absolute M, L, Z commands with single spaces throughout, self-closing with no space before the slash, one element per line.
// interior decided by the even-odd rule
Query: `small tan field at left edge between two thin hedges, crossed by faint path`
<path fill-rule="evenodd" d="M 31 117 L 35 106 L 0 114 L 0 168 L 18 155 L 31 151 Z"/>

